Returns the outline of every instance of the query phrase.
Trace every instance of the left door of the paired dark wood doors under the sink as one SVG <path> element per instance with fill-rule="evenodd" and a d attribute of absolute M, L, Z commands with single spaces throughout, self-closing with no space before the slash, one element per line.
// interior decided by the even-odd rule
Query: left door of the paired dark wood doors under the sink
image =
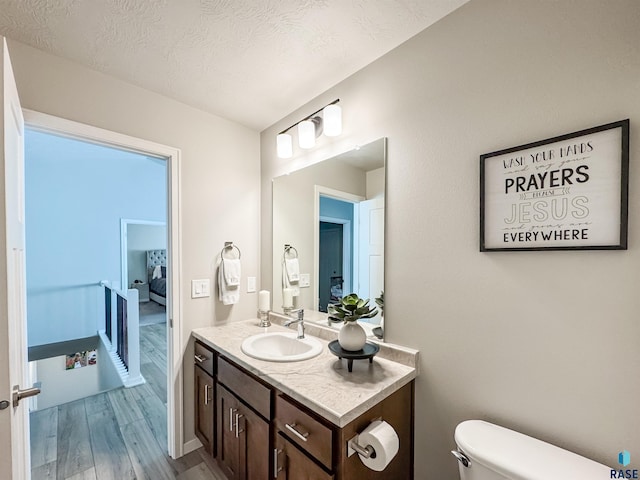
<path fill-rule="evenodd" d="M 240 442 L 236 438 L 236 415 L 239 417 L 240 402 L 226 388 L 218 384 L 217 408 L 217 459 L 220 468 L 229 480 L 242 479 L 240 472 Z"/>

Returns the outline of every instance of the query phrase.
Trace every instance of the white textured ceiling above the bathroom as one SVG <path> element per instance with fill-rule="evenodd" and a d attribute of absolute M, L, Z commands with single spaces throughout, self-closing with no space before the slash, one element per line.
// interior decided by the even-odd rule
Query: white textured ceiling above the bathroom
<path fill-rule="evenodd" d="M 468 0 L 0 0 L 0 34 L 263 130 Z"/>

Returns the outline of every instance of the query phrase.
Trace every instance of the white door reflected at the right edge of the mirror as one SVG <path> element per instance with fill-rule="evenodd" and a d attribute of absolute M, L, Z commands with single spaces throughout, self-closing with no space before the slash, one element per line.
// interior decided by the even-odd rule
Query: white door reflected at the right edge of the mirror
<path fill-rule="evenodd" d="M 361 298 L 369 298 L 369 306 L 384 288 L 384 198 L 359 203 L 358 270 Z M 379 322 L 380 313 L 370 321 Z"/>

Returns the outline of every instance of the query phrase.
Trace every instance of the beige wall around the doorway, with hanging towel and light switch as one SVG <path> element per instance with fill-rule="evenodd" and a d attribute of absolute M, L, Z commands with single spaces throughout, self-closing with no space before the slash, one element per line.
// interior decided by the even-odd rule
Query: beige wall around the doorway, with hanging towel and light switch
<path fill-rule="evenodd" d="M 244 286 L 233 307 L 213 296 L 191 299 L 190 282 L 210 278 L 213 285 L 215 258 L 225 240 L 242 249 L 243 276 L 258 276 L 259 135 L 19 42 L 8 44 L 23 107 L 181 150 L 184 433 L 186 441 L 192 440 L 191 330 L 251 318 L 258 302 Z"/>

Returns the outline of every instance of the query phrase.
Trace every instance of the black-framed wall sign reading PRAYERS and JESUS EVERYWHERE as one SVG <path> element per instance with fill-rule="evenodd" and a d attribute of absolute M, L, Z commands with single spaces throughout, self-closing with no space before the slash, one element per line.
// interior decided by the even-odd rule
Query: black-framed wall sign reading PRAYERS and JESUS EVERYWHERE
<path fill-rule="evenodd" d="M 480 251 L 626 250 L 629 120 L 480 156 Z"/>

